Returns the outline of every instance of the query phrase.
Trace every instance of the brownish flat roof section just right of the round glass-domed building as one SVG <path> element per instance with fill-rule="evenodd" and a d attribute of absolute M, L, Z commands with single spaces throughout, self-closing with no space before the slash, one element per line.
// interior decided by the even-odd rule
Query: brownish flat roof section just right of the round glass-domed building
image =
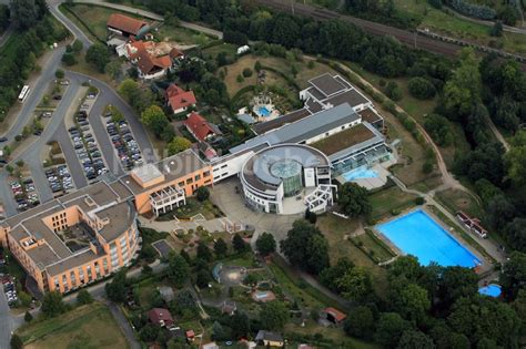
<path fill-rule="evenodd" d="M 367 129 L 364 124 L 357 124 L 356 126 L 333 134 L 310 145 L 323 152 L 325 155 L 332 155 L 373 137 L 375 137 L 373 131 Z"/>

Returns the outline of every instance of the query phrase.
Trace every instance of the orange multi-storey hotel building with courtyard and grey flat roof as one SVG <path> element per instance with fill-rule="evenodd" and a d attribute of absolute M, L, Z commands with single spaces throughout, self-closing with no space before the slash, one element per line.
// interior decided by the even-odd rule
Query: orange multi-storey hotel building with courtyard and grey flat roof
<path fill-rule="evenodd" d="M 212 182 L 211 167 L 189 150 L 10 217 L 0 240 L 41 291 L 67 292 L 131 264 L 138 214 L 168 212 Z"/>

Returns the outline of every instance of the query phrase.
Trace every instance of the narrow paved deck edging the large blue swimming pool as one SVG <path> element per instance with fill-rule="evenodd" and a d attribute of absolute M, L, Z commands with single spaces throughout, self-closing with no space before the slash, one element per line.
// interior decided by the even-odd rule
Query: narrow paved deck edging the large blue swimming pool
<path fill-rule="evenodd" d="M 373 227 L 373 234 L 381 238 L 397 256 L 405 256 L 405 253 L 402 252 L 393 242 L 391 242 L 382 232 L 377 229 L 377 226 L 381 224 L 388 223 L 391 220 L 397 219 L 404 215 L 411 214 L 412 212 L 415 212 L 417 209 L 424 211 L 436 224 L 438 224 L 444 230 L 447 232 L 454 239 L 456 239 L 465 249 L 467 249 L 469 253 L 472 253 L 475 257 L 481 260 L 481 265 L 475 267 L 475 273 L 478 275 L 485 274 L 487 271 L 493 270 L 493 264 L 492 260 L 488 260 L 485 258 L 478 250 L 474 249 L 457 232 L 455 228 L 447 226 L 441 218 L 438 218 L 433 212 L 427 209 L 426 205 L 424 206 L 418 206 L 418 207 L 412 207 L 408 208 L 404 212 L 402 212 L 399 215 L 382 219 L 377 222 L 374 227 Z"/>

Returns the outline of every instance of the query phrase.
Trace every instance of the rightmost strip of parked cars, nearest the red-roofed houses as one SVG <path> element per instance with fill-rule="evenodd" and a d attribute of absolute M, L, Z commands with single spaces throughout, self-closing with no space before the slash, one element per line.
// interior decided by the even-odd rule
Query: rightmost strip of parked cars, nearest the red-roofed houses
<path fill-rule="evenodd" d="M 101 116 L 122 167 L 130 171 L 142 165 L 141 150 L 122 114 L 110 110 Z"/>

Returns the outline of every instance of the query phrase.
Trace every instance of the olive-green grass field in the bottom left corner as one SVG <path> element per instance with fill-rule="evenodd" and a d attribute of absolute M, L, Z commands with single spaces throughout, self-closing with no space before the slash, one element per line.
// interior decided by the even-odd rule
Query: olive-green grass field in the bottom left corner
<path fill-rule="evenodd" d="M 31 322 L 17 332 L 27 349 L 128 348 L 110 310 L 98 302 L 57 318 Z"/>

